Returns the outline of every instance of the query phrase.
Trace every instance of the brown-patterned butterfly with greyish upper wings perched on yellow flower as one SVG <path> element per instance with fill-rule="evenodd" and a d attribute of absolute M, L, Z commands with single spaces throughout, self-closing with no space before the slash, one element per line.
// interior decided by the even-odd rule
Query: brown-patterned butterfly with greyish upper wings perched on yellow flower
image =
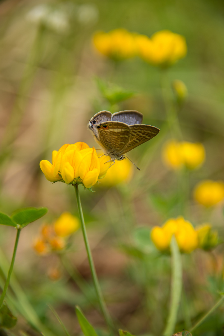
<path fill-rule="evenodd" d="M 130 110 L 111 114 L 100 111 L 90 119 L 88 127 L 111 161 L 123 160 L 124 154 L 152 139 L 160 129 L 142 124 L 143 114 Z"/>

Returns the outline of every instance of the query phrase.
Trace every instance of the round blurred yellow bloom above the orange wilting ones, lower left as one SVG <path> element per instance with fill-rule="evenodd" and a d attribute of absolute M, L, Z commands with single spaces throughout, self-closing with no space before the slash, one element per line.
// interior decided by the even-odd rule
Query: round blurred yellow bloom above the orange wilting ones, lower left
<path fill-rule="evenodd" d="M 70 212 L 63 212 L 54 222 L 54 230 L 57 236 L 66 237 L 74 233 L 79 228 L 79 219 L 72 216 Z"/>

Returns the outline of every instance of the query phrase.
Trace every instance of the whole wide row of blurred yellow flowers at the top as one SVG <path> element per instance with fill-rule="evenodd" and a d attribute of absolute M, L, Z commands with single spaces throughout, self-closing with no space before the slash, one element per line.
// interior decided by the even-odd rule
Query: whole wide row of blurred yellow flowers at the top
<path fill-rule="evenodd" d="M 93 43 L 100 53 L 109 58 L 121 60 L 139 55 L 161 67 L 172 65 L 187 52 L 185 38 L 169 30 L 159 31 L 149 38 L 119 28 L 109 33 L 95 33 Z"/>

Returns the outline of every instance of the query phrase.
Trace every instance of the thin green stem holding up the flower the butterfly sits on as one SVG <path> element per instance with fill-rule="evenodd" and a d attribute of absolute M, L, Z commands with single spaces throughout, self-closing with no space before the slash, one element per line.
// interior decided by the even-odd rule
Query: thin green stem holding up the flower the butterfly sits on
<path fill-rule="evenodd" d="M 92 274 L 92 277 L 93 277 L 93 282 L 94 282 L 96 294 L 97 294 L 97 297 L 98 297 L 98 300 L 99 300 L 99 305 L 100 305 L 101 311 L 103 313 L 105 321 L 106 321 L 106 323 L 108 325 L 108 328 L 110 330 L 110 334 L 113 335 L 113 332 L 112 332 L 112 330 L 114 329 L 113 322 L 112 322 L 110 314 L 107 310 L 107 307 L 106 307 L 106 304 L 105 304 L 105 301 L 104 301 L 104 298 L 103 298 L 103 294 L 101 292 L 99 280 L 97 278 L 97 273 L 96 273 L 96 269 L 95 269 L 95 265 L 94 265 L 94 261 L 93 261 L 92 252 L 91 252 L 91 249 L 90 249 L 90 244 L 89 244 L 88 237 L 87 237 L 86 225 L 85 225 L 85 221 L 84 221 L 84 216 L 83 216 L 82 206 L 81 206 L 81 201 L 80 201 L 80 195 L 79 195 L 79 191 L 78 191 L 78 184 L 75 184 L 74 188 L 75 188 L 75 195 L 76 195 L 76 200 L 77 200 L 79 217 L 80 217 L 80 221 L 81 221 L 82 235 L 83 235 L 83 239 L 84 239 L 85 246 L 86 246 L 86 251 L 87 251 L 87 255 L 88 255 L 88 260 L 89 260 L 89 264 L 90 264 L 90 269 L 91 269 L 91 274 Z"/>

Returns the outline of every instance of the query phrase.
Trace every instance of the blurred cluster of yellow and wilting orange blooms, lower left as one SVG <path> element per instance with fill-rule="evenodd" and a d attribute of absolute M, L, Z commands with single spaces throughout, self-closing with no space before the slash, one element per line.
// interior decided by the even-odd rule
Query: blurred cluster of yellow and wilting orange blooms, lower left
<path fill-rule="evenodd" d="M 36 238 L 33 248 L 38 254 L 48 254 L 62 250 L 66 237 L 73 234 L 80 226 L 79 219 L 69 212 L 64 212 L 53 224 L 44 224 L 40 237 Z"/>

